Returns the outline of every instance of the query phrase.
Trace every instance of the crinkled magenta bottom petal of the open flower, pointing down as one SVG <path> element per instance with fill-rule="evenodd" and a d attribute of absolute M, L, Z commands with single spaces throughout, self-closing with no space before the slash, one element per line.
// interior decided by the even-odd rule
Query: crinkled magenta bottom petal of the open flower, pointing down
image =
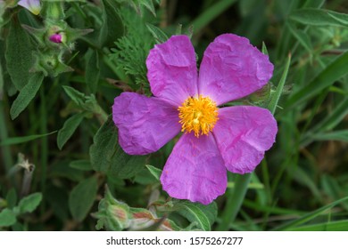
<path fill-rule="evenodd" d="M 227 171 L 214 137 L 185 133 L 164 165 L 161 182 L 170 197 L 203 205 L 224 194 Z"/>

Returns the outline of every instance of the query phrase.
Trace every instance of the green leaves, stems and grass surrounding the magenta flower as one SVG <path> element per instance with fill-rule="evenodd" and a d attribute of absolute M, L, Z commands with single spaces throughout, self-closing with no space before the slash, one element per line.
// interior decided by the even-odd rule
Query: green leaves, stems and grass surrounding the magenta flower
<path fill-rule="evenodd" d="M 42 4 L 39 16 L 17 6 L 0 19 L 0 230 L 348 230 L 346 1 Z M 54 27 L 64 44 L 47 42 Z M 153 44 L 186 34 L 200 61 L 223 33 L 275 65 L 243 101 L 275 111 L 277 143 L 254 173 L 229 174 L 213 204 L 173 200 L 158 176 L 175 141 L 126 155 L 113 98 L 150 94 Z"/>

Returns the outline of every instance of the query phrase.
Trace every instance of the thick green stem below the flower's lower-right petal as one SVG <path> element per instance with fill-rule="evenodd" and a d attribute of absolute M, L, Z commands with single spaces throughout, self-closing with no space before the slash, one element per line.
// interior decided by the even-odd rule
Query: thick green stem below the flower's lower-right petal
<path fill-rule="evenodd" d="M 235 221 L 236 214 L 242 206 L 251 179 L 251 173 L 236 175 L 235 188 L 228 191 L 228 203 L 221 215 L 221 222 L 217 228 L 218 231 L 227 231 L 229 224 Z"/>

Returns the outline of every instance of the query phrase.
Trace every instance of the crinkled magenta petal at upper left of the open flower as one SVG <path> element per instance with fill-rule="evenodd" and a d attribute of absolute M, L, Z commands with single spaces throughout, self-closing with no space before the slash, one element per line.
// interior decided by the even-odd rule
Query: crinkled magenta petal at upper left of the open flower
<path fill-rule="evenodd" d="M 157 44 L 146 60 L 151 92 L 180 106 L 197 93 L 195 50 L 187 36 L 171 36 Z"/>

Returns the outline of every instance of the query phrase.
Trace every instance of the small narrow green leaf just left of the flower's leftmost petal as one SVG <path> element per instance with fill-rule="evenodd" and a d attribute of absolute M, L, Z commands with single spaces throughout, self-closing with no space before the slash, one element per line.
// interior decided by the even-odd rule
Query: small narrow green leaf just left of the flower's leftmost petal
<path fill-rule="evenodd" d="M 76 129 L 81 124 L 82 119 L 84 118 L 85 113 L 81 112 L 75 114 L 74 116 L 70 116 L 62 125 L 62 129 L 59 130 L 57 136 L 57 145 L 59 149 L 62 149 L 64 144 L 70 139 L 73 133 L 75 133 Z"/>

